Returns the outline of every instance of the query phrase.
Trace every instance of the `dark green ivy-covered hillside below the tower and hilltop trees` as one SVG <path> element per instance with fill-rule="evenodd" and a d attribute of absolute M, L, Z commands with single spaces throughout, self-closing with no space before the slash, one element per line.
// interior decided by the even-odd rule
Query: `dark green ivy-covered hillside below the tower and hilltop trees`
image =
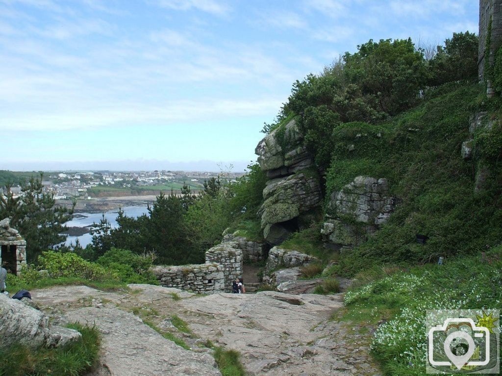
<path fill-rule="evenodd" d="M 399 199 L 389 222 L 342 258 L 339 272 L 350 276 L 371 264 L 429 262 L 497 244 L 500 188 L 475 194 L 475 162 L 460 156 L 479 93 L 477 85 L 448 84 L 391 121 L 349 123 L 335 130 L 328 193 L 357 175 L 369 175 L 387 178 Z M 354 151 L 347 147 L 351 144 Z M 417 233 L 430 237 L 427 244 L 416 243 Z"/>

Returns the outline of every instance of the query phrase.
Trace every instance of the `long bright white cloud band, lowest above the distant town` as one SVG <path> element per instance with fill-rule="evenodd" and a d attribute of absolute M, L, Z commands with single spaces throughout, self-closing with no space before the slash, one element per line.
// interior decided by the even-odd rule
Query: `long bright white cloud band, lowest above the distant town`
<path fill-rule="evenodd" d="M 74 103 L 66 110 L 38 111 L 3 116 L 0 130 L 47 131 L 96 129 L 120 124 L 177 124 L 225 118 L 256 116 L 276 111 L 283 98 L 250 99 L 197 98 L 171 101 L 163 105 L 144 102 Z M 63 106 L 64 107 L 64 106 Z"/>

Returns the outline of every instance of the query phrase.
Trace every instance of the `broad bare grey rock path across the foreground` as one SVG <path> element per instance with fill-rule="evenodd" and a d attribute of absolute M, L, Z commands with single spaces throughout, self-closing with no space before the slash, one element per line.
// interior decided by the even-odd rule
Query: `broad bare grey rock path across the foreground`
<path fill-rule="evenodd" d="M 195 348 L 205 340 L 238 350 L 250 376 L 380 374 L 368 355 L 367 336 L 329 320 L 342 307 L 340 295 L 266 291 L 198 296 L 159 286 L 129 287 L 121 293 L 54 287 L 34 291 L 32 296 L 48 313 L 63 316 L 63 321 L 96 323 L 103 333 L 101 360 L 110 373 L 103 368 L 93 376 L 219 374 L 212 356 Z M 148 320 L 158 327 L 185 337 L 193 351 L 164 339 L 130 313 L 138 310 L 150 312 Z M 170 324 L 172 315 L 188 323 L 191 338 Z M 138 367 L 128 365 L 136 360 Z"/>

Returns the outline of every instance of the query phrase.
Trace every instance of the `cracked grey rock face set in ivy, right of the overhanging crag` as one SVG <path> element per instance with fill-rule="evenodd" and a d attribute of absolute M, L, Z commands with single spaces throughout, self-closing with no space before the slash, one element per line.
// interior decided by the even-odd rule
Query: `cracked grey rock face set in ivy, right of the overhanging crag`
<path fill-rule="evenodd" d="M 360 244 L 389 219 L 395 205 L 386 179 L 357 176 L 330 196 L 321 229 L 325 246 L 344 250 Z"/>

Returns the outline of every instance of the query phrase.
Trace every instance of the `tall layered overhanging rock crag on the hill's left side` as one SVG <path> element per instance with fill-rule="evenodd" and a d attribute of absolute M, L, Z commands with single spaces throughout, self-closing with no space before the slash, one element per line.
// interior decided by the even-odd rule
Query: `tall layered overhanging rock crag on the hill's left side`
<path fill-rule="evenodd" d="M 319 178 L 295 120 L 267 135 L 255 152 L 271 179 L 263 191 L 265 202 L 260 212 L 264 238 L 277 245 L 320 205 Z"/>

